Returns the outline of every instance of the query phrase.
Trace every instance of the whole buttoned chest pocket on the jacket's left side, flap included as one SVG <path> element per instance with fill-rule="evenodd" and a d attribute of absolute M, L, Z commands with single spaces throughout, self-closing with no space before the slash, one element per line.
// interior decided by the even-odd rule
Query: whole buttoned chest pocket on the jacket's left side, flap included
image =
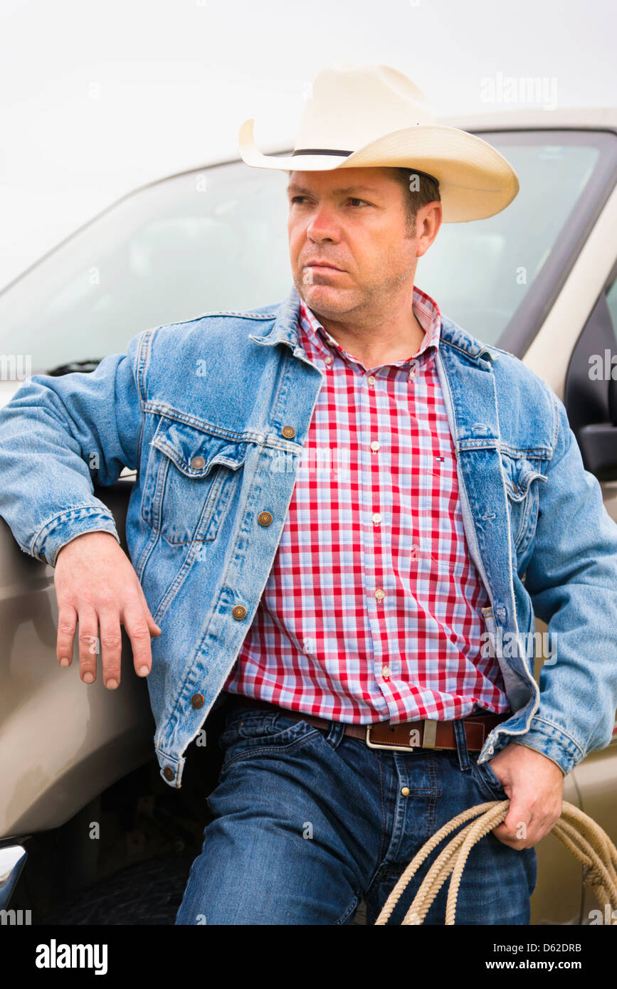
<path fill-rule="evenodd" d="M 161 417 L 150 443 L 141 517 L 172 545 L 214 539 L 246 451 L 245 442 Z"/>

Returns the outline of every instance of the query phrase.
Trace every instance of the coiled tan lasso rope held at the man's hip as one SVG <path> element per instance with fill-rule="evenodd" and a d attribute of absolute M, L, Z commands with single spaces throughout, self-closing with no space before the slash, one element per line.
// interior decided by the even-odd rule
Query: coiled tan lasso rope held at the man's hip
<path fill-rule="evenodd" d="M 403 890 L 424 859 L 459 825 L 469 821 L 470 823 L 437 856 L 401 922 L 422 924 L 437 893 L 452 872 L 446 905 L 446 924 L 453 925 L 459 886 L 468 855 L 476 842 L 481 841 L 489 831 L 505 819 L 509 806 L 509 800 L 490 800 L 488 803 L 468 808 L 458 817 L 453 817 L 444 824 L 443 828 L 435 832 L 411 859 L 386 900 L 375 924 L 388 923 Z M 477 820 L 474 821 L 473 818 Z M 562 815 L 555 823 L 551 834 L 559 838 L 582 863 L 584 884 L 591 886 L 603 911 L 606 906 L 610 908 L 611 924 L 617 925 L 617 919 L 612 919 L 613 910 L 617 909 L 617 849 L 606 832 L 602 831 L 587 814 L 583 814 L 573 804 L 564 800 Z"/>

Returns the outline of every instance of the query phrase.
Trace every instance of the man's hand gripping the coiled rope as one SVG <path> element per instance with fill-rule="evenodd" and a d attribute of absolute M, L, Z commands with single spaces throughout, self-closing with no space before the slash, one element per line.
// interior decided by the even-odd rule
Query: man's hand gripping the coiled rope
<path fill-rule="evenodd" d="M 492 834 L 517 851 L 533 848 L 562 815 L 564 773 L 547 756 L 515 742 L 489 763 L 510 799 L 507 817 Z"/>

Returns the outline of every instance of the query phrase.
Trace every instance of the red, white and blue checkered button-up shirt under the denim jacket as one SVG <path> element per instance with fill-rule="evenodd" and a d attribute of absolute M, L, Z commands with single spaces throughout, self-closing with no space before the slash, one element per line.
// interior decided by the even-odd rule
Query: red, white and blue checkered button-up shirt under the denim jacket
<path fill-rule="evenodd" d="M 468 552 L 437 375 L 441 315 L 413 289 L 414 357 L 366 369 L 303 304 L 324 371 L 289 513 L 223 689 L 328 720 L 507 711 Z"/>

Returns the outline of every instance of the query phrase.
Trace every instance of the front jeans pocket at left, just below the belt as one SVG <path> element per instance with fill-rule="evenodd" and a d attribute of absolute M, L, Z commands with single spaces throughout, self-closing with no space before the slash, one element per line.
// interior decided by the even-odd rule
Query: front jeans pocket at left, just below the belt
<path fill-rule="evenodd" d="M 297 721 L 276 711 L 232 708 L 219 737 L 223 752 L 221 768 L 251 756 L 286 753 L 318 733 L 319 729 L 307 721 Z"/>

